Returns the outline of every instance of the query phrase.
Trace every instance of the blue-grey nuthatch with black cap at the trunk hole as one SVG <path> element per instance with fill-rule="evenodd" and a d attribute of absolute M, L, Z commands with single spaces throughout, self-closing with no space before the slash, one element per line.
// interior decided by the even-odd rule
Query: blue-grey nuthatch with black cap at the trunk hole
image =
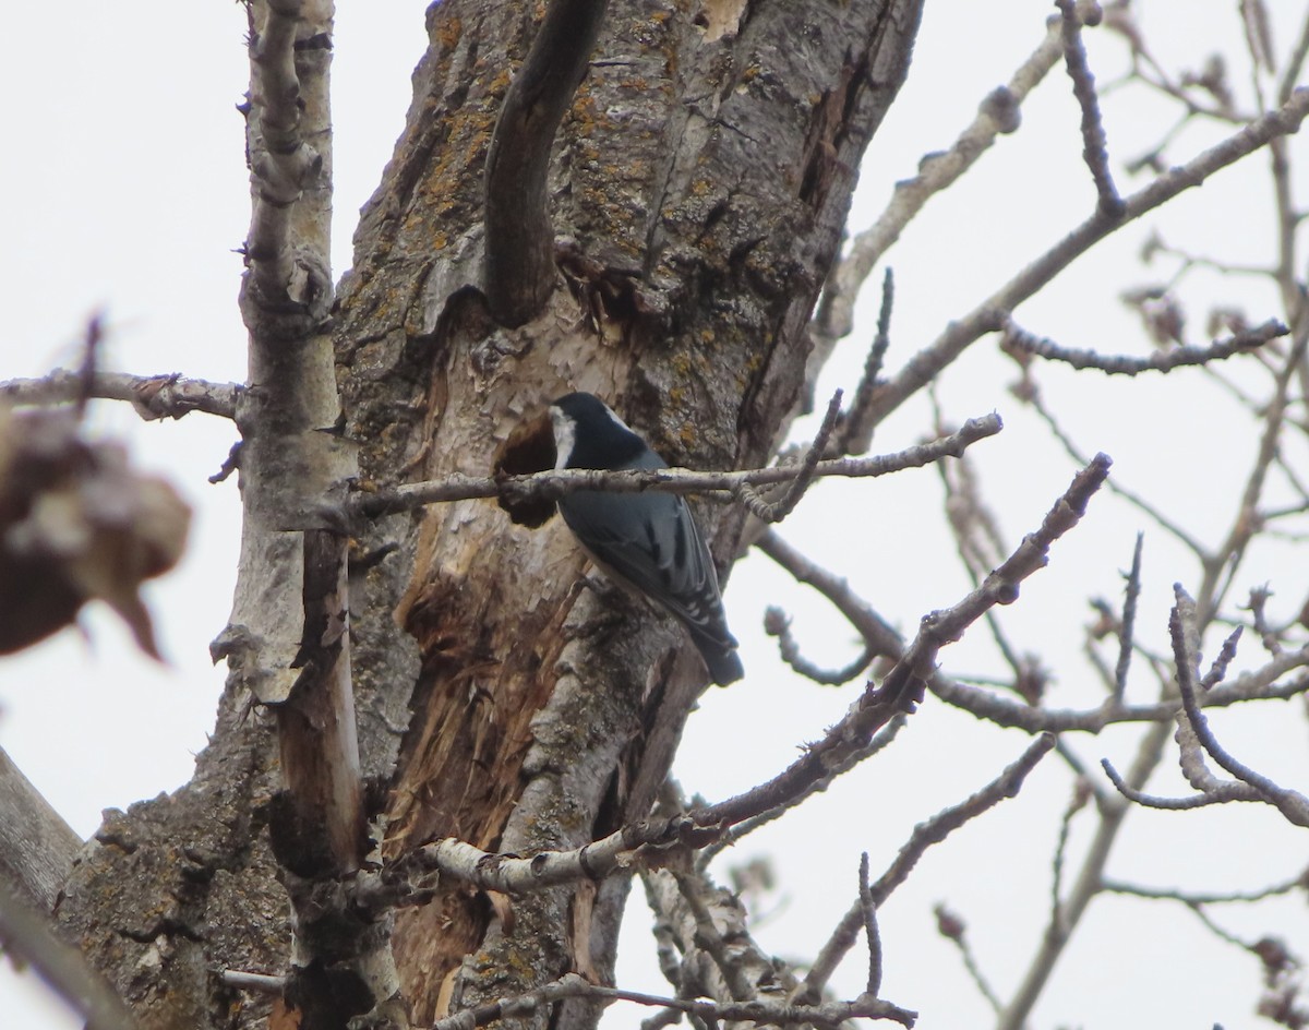
<path fill-rule="evenodd" d="M 658 454 L 594 394 L 550 404 L 555 469 L 666 469 Z M 723 614 L 723 593 L 700 527 L 677 493 L 579 489 L 559 513 L 611 580 L 648 597 L 686 627 L 719 686 L 745 675 Z"/>

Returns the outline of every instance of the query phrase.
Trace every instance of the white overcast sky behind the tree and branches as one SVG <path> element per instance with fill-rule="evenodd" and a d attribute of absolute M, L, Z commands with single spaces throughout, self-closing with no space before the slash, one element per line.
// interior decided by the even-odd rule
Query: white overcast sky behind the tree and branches
<path fill-rule="evenodd" d="M 1195 68 L 1219 44 L 1234 85 L 1247 97 L 1236 0 L 1144 0 L 1138 7 L 1165 67 Z M 1304 5 L 1270 0 L 1268 7 L 1284 55 Z M 876 216 L 897 179 L 914 173 L 922 154 L 953 141 L 978 101 L 1037 46 L 1052 10 L 1035 0 L 927 8 L 908 84 L 861 173 L 856 229 Z M 416 0 L 340 5 L 332 71 L 338 276 L 350 263 L 357 208 L 403 126 L 410 72 L 425 43 L 423 10 Z M 113 368 L 242 378 L 245 334 L 236 309 L 241 262 L 234 253 L 249 220 L 242 124 L 234 110 L 247 77 L 242 9 L 226 0 L 126 7 L 71 0 L 58 13 L 16 5 L 5 27 L 0 378 L 75 363 L 85 321 L 96 311 L 107 319 Z M 1122 71 L 1117 43 L 1092 33 L 1090 46 L 1100 80 L 1115 77 Z M 1141 181 L 1128 178 L 1122 161 L 1155 144 L 1172 124 L 1172 109 L 1124 92 L 1106 98 L 1105 111 L 1115 174 L 1124 191 L 1138 188 Z M 1089 213 L 1094 192 L 1080 161 L 1077 116 L 1058 71 L 1029 101 L 1021 131 L 1003 139 L 958 188 L 932 202 L 890 253 L 897 274 L 891 369 Z M 1189 128 L 1170 158 L 1186 160 L 1221 135 Z M 1309 154 L 1299 140 L 1293 152 L 1302 175 Z M 1072 347 L 1144 351 L 1136 321 L 1118 296 L 1168 275 L 1166 268 L 1138 266 L 1148 233 L 1158 229 L 1170 242 L 1232 263 L 1267 263 L 1267 182 L 1262 156 L 1212 179 L 1077 262 L 1020 309 L 1018 321 Z M 1301 178 L 1295 186 L 1302 200 L 1309 183 Z M 1279 314 L 1275 296 L 1261 283 L 1202 275 L 1185 296 L 1195 305 L 1192 343 L 1206 342 L 1203 314 L 1211 302 L 1245 304 L 1251 321 Z M 857 382 L 876 306 L 874 296 L 861 304 L 855 336 L 838 351 L 821 393 L 836 386 L 848 391 Z M 1009 395 L 1013 377 L 1012 364 L 983 342 L 937 391 L 952 421 L 992 410 L 1005 419 L 1004 433 L 975 453 L 1011 543 L 1039 524 L 1073 472 Z M 1114 457 L 1115 478 L 1166 503 L 1202 538 L 1223 531 L 1253 444 L 1234 407 L 1203 374 L 1110 381 L 1051 369 L 1041 377 L 1079 444 Z M 209 666 L 207 648 L 228 614 L 238 534 L 236 484 L 206 483 L 233 442 L 229 425 L 199 415 L 143 425 L 113 406 L 97 407 L 93 417 L 97 431 L 127 437 L 140 465 L 170 475 L 195 505 L 196 521 L 182 567 L 149 590 L 168 666 L 137 657 L 122 627 L 96 610 L 85 615 L 84 635 L 65 632 L 0 662 L 0 746 L 82 835 L 94 832 L 103 808 L 126 808 L 190 776 L 221 688 L 221 669 Z M 928 402 L 919 398 L 880 429 L 876 450 L 918 442 L 931 424 Z M 1230 470 L 1225 461 L 1233 462 Z M 912 632 L 922 614 L 953 603 L 967 589 L 939 525 L 940 500 L 933 470 L 823 484 L 784 534 Z M 490 505 L 488 517 L 497 517 Z M 1138 512 L 1107 497 L 1093 504 L 1083 530 L 1058 544 L 1051 567 L 1005 613 L 1020 649 L 1049 656 L 1056 704 L 1093 703 L 1093 681 L 1079 658 L 1080 627 L 1090 620 L 1086 597 L 1117 602 L 1119 569 L 1130 563 L 1138 529 L 1147 533 L 1140 632 L 1165 649 L 1172 584 L 1194 586 L 1194 561 Z M 1302 564 L 1288 568 L 1283 556 L 1261 550 L 1237 594 L 1268 581 L 1275 590 L 1284 586 L 1275 603 L 1297 606 L 1306 578 Z M 789 586 L 764 559 L 740 563 L 728 607 L 747 678 L 709 692 L 692 717 L 677 768 L 687 790 L 720 798 L 775 773 L 855 696 L 857 686 L 821 690 L 780 670 L 759 628 L 767 603 L 795 615 L 798 639 L 819 664 L 836 667 L 853 657 L 852 633 L 829 607 Z M 1207 643 L 1212 653 L 1216 644 Z M 997 667 L 980 630 L 942 662 L 952 671 Z M 1148 677 L 1134 687 L 1141 700 L 1152 696 Z M 1302 717 L 1283 705 L 1225 713 L 1219 725 L 1233 750 L 1245 749 L 1263 771 L 1304 788 Z M 1126 729 L 1069 741 L 1088 764 L 1109 756 L 1122 767 L 1138 737 L 1139 730 Z M 749 747 L 733 747 L 742 739 Z M 764 946 L 788 958 L 812 955 L 855 897 L 861 851 L 870 853 L 876 874 L 916 822 L 991 779 L 1025 745 L 1021 734 L 982 726 L 929 700 L 891 753 L 725 856 L 723 868 L 774 857 L 781 886 L 766 904 Z M 1175 763 L 1170 758 L 1165 766 L 1153 787 L 1177 793 Z M 935 933 L 936 902 L 965 916 L 991 983 L 1003 997 L 1012 993 L 1047 917 L 1050 855 L 1068 789 L 1066 770 L 1047 759 L 1017 800 L 929 852 L 888 903 L 884 993 L 919 1009 L 920 1026 L 978 1026 L 991 1018 L 957 955 Z M 1075 826 L 1075 855 L 1089 825 Z M 1304 853 L 1302 831 L 1293 834 L 1275 813 L 1257 806 L 1135 813 L 1110 872 L 1160 886 L 1253 889 L 1293 874 Z M 1093 912 L 1038 1006 L 1035 1026 L 1254 1025 L 1258 965 L 1217 944 L 1179 906 L 1144 908 L 1106 898 Z M 1234 933 L 1283 933 L 1292 946 L 1309 950 L 1302 902 L 1219 915 Z M 842 995 L 857 993 L 863 966 L 856 949 L 838 976 Z M 665 989 L 635 910 L 624 928 L 620 975 L 628 987 Z M 647 1014 L 615 1008 L 606 1025 L 635 1027 Z M 0 1022 L 73 1025 L 42 1000 L 30 978 L 21 980 L 7 967 L 0 968 Z"/>

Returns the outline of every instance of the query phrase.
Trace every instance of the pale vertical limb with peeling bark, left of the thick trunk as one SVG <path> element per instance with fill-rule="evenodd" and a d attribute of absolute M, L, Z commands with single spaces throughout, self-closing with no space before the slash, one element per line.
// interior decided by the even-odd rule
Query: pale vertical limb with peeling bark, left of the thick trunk
<path fill-rule="evenodd" d="M 243 525 L 232 622 L 215 644 L 229 683 L 276 716 L 284 792 L 270 835 L 295 932 L 284 999 L 305 1030 L 343 1025 L 397 993 L 389 920 L 352 917 L 335 889 L 363 861 L 365 818 L 342 514 L 355 463 L 338 436 L 325 331 L 332 14 L 330 0 L 250 8 Z"/>

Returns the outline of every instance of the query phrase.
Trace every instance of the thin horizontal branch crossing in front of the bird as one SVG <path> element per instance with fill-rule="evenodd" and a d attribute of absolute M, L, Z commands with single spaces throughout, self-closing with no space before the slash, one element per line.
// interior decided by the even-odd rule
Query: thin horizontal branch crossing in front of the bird
<path fill-rule="evenodd" d="M 999 415 L 969 419 L 957 432 L 942 440 L 907 448 L 897 454 L 877 458 L 836 458 L 821 461 L 817 476 L 878 476 L 902 469 L 918 469 L 945 457 L 958 457 L 966 448 L 1001 429 Z M 700 472 L 689 469 L 649 469 L 641 471 L 602 471 L 596 469 L 563 469 L 531 475 L 470 476 L 449 475 L 428 483 L 408 483 L 390 491 L 359 493 L 350 504 L 353 513 L 376 518 L 395 512 L 407 512 L 425 504 L 466 500 L 469 497 L 508 497 L 521 500 L 528 496 L 558 500 L 579 489 L 606 489 L 619 493 L 639 493 L 660 489 L 669 493 L 700 493 L 713 489 L 734 491 L 741 483 L 762 486 L 793 480 L 802 466 L 775 466 L 737 472 Z"/>

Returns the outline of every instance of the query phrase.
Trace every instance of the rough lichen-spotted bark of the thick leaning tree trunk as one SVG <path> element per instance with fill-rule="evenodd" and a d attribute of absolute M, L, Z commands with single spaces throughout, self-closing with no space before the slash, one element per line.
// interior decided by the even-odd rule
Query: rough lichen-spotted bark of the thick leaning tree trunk
<path fill-rule="evenodd" d="M 611 3 L 554 147 L 559 285 L 507 330 L 482 292 L 482 177 L 545 5 L 435 4 L 332 315 L 363 487 L 530 466 L 511 435 L 572 389 L 603 395 L 674 463 L 763 463 L 797 406 L 810 310 L 919 8 Z M 297 60 L 325 52 L 301 42 Z M 726 568 L 744 514 L 702 514 Z M 580 589 L 558 525 L 514 525 L 487 501 L 380 520 L 355 558 L 359 742 L 389 797 L 387 855 L 432 835 L 571 847 L 649 810 L 704 686 L 679 627 Z M 194 780 L 111 815 L 65 885 L 65 931 L 143 1026 L 267 1017 L 219 974 L 285 970 L 264 832 L 278 766 L 272 719 L 234 678 Z M 605 975 L 626 894 L 620 877 L 556 889 L 504 919 L 445 890 L 397 928 L 415 1022 L 571 968 Z M 342 1025 L 352 1004 L 339 1000 Z M 596 1016 L 564 1003 L 556 1023 Z"/>

